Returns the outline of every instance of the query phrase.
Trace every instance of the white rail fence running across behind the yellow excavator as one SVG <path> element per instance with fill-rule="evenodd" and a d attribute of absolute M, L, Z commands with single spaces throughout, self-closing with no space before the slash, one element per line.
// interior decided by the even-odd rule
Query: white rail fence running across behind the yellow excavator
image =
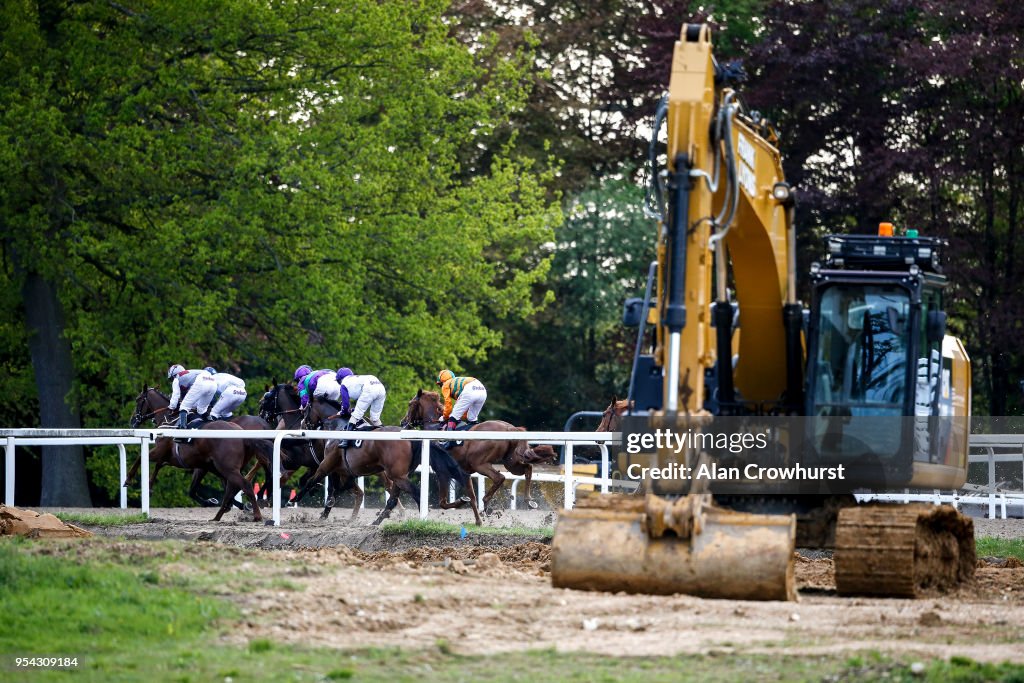
<path fill-rule="evenodd" d="M 127 476 L 127 461 L 125 446 L 139 446 L 141 457 L 141 509 L 142 512 L 150 512 L 150 445 L 157 438 L 164 436 L 176 436 L 179 432 L 175 429 L 0 429 L 0 438 L 6 442 L 5 449 L 5 487 L 4 502 L 6 505 L 14 504 L 14 449 L 18 445 L 117 445 L 120 456 L 120 481 L 124 481 Z M 265 438 L 273 440 L 273 511 L 272 523 L 281 524 L 281 443 L 286 438 L 306 438 L 306 439 L 332 439 L 332 438 L 353 438 L 352 432 L 343 431 L 318 431 L 318 430 L 265 430 L 265 431 L 239 431 L 239 430 L 204 430 L 203 438 Z M 450 432 L 427 432 L 404 430 L 399 432 L 357 432 L 357 437 L 364 440 L 411 440 L 419 441 L 421 447 L 421 464 L 417 471 L 420 472 L 420 500 L 423 502 L 420 508 L 421 518 L 426 518 L 428 514 L 428 494 L 430 489 L 430 441 L 446 440 L 451 438 Z M 608 445 L 613 443 L 616 435 L 608 432 L 518 432 L 515 439 L 525 439 L 529 443 L 548 443 L 552 445 L 562 445 L 563 465 L 559 474 L 535 471 L 534 481 L 555 481 L 564 486 L 564 507 L 570 509 L 575 502 L 575 488 L 581 484 L 593 484 L 599 486 L 602 493 L 607 493 L 612 486 L 624 486 L 635 488 L 633 482 L 613 480 L 609 469 Z M 508 432 L 460 432 L 459 438 L 464 440 L 509 440 Z M 578 445 L 597 445 L 601 451 L 601 466 L 598 476 L 583 476 L 572 471 L 572 453 Z M 863 494 L 858 495 L 861 501 L 889 501 L 897 503 L 927 502 L 948 503 L 954 507 L 982 506 L 988 508 L 988 516 L 994 518 L 998 510 L 1004 519 L 1007 518 L 1008 508 L 1015 506 L 1021 508 L 1024 513 L 1024 492 L 1001 490 L 996 486 L 995 463 L 1021 463 L 1022 476 L 1024 476 L 1024 434 L 977 434 L 971 436 L 971 463 L 988 464 L 988 484 L 986 486 L 969 486 L 961 492 L 942 493 L 934 490 L 931 493 L 888 493 L 888 494 Z M 477 477 L 476 490 L 478 500 L 483 497 L 484 479 Z M 515 509 L 517 499 L 517 488 L 519 481 L 524 477 L 505 474 L 511 481 L 512 507 Z M 361 481 L 360 481 L 361 485 Z M 128 505 L 128 492 L 121 487 L 121 507 Z"/>

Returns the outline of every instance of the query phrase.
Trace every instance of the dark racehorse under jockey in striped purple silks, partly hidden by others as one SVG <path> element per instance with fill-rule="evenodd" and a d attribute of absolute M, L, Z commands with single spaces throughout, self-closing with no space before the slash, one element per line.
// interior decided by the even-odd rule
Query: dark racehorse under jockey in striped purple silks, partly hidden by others
<path fill-rule="evenodd" d="M 267 389 L 259 401 L 260 417 L 275 427 L 271 429 L 296 430 L 302 423 L 302 409 L 299 408 L 299 392 L 291 384 L 275 384 Z M 271 454 L 272 455 L 272 454 Z M 306 471 L 299 479 L 299 489 L 306 489 L 306 484 L 312 478 L 319 464 L 324 462 L 324 441 L 321 439 L 290 439 L 281 442 L 281 485 L 284 486 L 296 470 L 305 467 Z M 249 474 L 252 474 L 250 472 Z M 246 476 L 249 476 L 247 474 Z M 328 479 L 328 503 L 334 507 L 335 497 L 341 486 L 341 480 L 336 473 L 331 473 Z M 267 478 L 269 481 L 269 478 Z M 353 484 L 356 497 L 361 500 L 362 489 Z M 296 498 L 296 502 L 301 498 Z M 358 507 L 356 507 L 358 509 Z M 326 515 L 325 515 L 326 517 Z"/>

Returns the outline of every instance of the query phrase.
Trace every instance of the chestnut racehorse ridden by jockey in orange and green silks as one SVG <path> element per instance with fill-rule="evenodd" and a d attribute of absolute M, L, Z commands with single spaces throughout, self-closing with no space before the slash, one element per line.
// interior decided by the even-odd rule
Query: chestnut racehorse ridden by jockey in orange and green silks
<path fill-rule="evenodd" d="M 424 429 L 438 429 L 440 427 L 441 410 L 440 396 L 436 391 L 424 391 L 420 389 L 413 400 L 409 403 L 409 411 L 402 418 L 402 426 L 422 426 Z M 469 431 L 499 431 L 499 432 L 521 432 L 524 427 L 516 427 L 502 420 L 487 420 L 473 425 Z M 453 438 L 458 438 L 456 434 Z M 461 444 L 456 444 L 449 449 L 449 455 L 459 464 L 460 468 L 470 474 L 482 474 L 492 481 L 490 487 L 483 495 L 483 510 L 486 510 L 487 503 L 495 497 L 495 494 L 505 483 L 505 475 L 496 470 L 494 463 L 501 463 L 505 469 L 516 475 L 526 477 L 526 505 L 531 509 L 537 509 L 530 494 L 530 481 L 534 476 L 534 465 L 554 461 L 558 459 L 558 453 L 550 445 L 530 446 L 523 439 L 509 439 L 506 441 L 478 441 L 465 440 Z M 469 479 L 469 493 L 473 516 L 476 524 L 482 524 L 480 511 L 476 507 L 476 496 L 473 493 L 472 479 Z"/>

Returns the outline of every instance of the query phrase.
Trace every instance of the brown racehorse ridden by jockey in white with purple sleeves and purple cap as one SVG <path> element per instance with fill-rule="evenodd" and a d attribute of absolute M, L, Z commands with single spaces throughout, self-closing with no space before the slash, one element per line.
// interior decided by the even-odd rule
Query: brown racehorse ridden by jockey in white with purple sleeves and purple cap
<path fill-rule="evenodd" d="M 306 404 L 302 419 L 304 429 L 324 428 L 331 431 L 342 430 L 348 425 L 348 419 L 338 414 L 336 404 L 324 400 L 318 396 L 313 397 Z M 398 427 L 381 427 L 378 431 L 399 431 Z M 413 455 L 413 445 L 409 441 L 384 441 L 376 439 L 366 439 L 357 441 L 359 432 L 351 432 L 351 443 L 348 447 L 341 447 L 337 439 L 329 439 L 324 445 L 324 461 L 316 468 L 313 476 L 306 482 L 299 493 L 299 499 L 306 494 L 316 482 L 326 475 L 337 472 L 341 476 L 341 487 L 336 492 L 340 495 L 349 488 L 356 489 L 356 501 L 352 508 L 351 519 L 354 519 L 359 512 L 359 505 L 362 502 L 362 492 L 355 485 L 357 477 L 370 474 L 379 474 L 384 480 L 388 493 L 387 505 L 373 521 L 376 526 L 391 515 L 391 511 L 398 504 L 400 492 L 409 494 L 420 506 L 419 490 L 413 486 L 409 480 L 409 473 L 419 466 L 418 458 Z M 354 442 L 353 442 L 354 441 Z M 326 519 L 331 514 L 334 501 L 329 500 L 329 505 L 324 507 L 321 518 Z M 424 502 L 425 503 L 425 502 Z"/>

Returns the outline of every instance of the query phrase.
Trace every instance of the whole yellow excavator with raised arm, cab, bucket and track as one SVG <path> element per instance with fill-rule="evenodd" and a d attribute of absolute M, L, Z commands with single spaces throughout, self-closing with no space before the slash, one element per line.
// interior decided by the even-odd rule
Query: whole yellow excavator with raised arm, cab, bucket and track
<path fill-rule="evenodd" d="M 954 586 L 974 572 L 970 518 L 855 498 L 966 481 L 971 366 L 946 334 L 945 243 L 889 223 L 878 234 L 828 236 L 805 309 L 794 190 L 774 132 L 743 112 L 734 76 L 715 60 L 709 28 L 684 25 L 651 142 L 653 164 L 665 125 L 668 168 L 651 172 L 657 262 L 632 307 L 639 417 L 624 418 L 634 427 L 623 432 L 624 446 L 638 447 L 624 449 L 618 468 L 641 495 L 589 496 L 562 512 L 552 582 L 796 599 L 801 547 L 834 549 L 840 594 Z M 647 354 L 644 326 L 655 330 Z M 771 447 L 694 437 L 715 436 L 723 422 Z M 845 480 L 756 476 L 783 470 Z"/>

